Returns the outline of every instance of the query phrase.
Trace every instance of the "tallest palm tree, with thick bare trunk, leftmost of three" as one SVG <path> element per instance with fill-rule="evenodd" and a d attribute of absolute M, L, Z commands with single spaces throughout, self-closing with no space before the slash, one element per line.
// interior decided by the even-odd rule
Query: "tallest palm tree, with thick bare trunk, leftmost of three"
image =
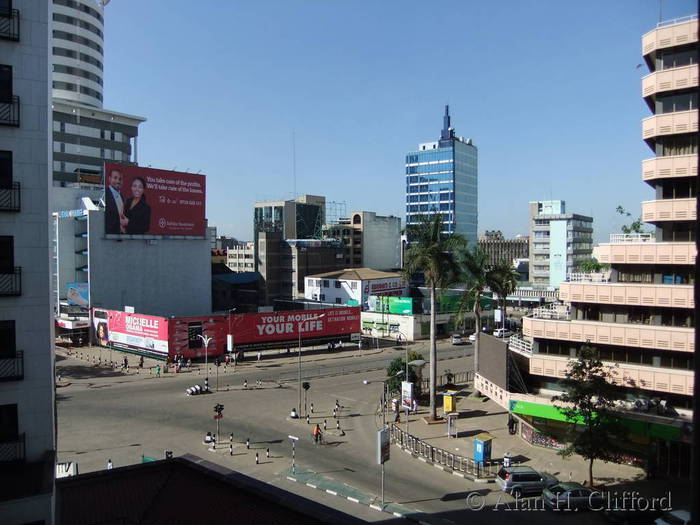
<path fill-rule="evenodd" d="M 455 252 L 466 246 L 460 234 L 443 233 L 442 215 L 422 215 L 418 224 L 406 227 L 409 248 L 401 273 L 407 281 L 422 272 L 430 288 L 430 418 L 436 419 L 435 381 L 437 376 L 436 295 L 459 275 Z"/>

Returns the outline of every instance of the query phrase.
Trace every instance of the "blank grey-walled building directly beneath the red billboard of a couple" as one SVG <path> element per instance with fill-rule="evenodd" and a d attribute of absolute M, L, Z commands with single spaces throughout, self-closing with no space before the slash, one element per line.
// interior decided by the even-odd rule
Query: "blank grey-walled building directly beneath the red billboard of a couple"
<path fill-rule="evenodd" d="M 211 312 L 210 239 L 107 238 L 105 213 L 82 209 L 54 213 L 54 293 L 67 299 L 68 283 L 88 287 L 86 307 L 162 316 Z"/>

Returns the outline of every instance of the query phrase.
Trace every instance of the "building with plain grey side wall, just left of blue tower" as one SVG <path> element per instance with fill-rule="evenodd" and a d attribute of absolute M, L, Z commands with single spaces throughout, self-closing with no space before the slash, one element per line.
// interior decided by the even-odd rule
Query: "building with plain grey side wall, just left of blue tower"
<path fill-rule="evenodd" d="M 401 267 L 401 219 L 355 211 L 323 227 L 325 237 L 345 246 L 346 268 L 392 270 Z"/>

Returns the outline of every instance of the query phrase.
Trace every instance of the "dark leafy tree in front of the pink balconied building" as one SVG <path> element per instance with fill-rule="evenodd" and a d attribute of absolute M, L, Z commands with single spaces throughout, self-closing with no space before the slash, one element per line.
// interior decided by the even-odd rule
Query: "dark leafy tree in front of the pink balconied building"
<path fill-rule="evenodd" d="M 618 445 L 626 436 L 618 411 L 623 396 L 611 382 L 613 376 L 612 367 L 604 365 L 596 349 L 586 343 L 569 362 L 562 380 L 564 393 L 552 397 L 572 427 L 571 441 L 561 454 L 578 454 L 588 460 L 590 486 L 593 461 L 619 461 L 623 453 Z"/>

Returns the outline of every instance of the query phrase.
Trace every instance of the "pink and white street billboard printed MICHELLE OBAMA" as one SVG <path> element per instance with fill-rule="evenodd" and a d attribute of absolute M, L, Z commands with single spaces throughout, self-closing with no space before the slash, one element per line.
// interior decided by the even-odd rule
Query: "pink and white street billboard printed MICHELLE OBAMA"
<path fill-rule="evenodd" d="M 95 338 L 103 346 L 168 354 L 168 319 L 93 308 Z"/>

